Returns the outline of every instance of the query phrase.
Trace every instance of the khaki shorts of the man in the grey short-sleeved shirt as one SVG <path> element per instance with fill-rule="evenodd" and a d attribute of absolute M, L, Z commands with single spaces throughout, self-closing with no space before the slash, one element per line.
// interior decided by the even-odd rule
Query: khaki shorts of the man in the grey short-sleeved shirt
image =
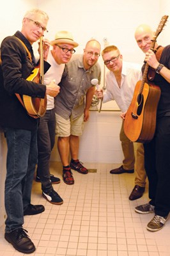
<path fill-rule="evenodd" d="M 70 135 L 81 136 L 84 128 L 84 113 L 72 119 L 65 119 L 56 114 L 56 135 L 58 137 L 69 137 Z"/>

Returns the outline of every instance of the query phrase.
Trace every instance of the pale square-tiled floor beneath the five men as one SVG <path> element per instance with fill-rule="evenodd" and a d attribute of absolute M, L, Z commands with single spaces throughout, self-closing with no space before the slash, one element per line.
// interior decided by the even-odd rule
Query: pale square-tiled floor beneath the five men
<path fill-rule="evenodd" d="M 85 165 L 85 164 L 84 164 Z M 32 204 L 45 205 L 45 212 L 25 216 L 24 228 L 36 245 L 34 256 L 169 256 L 170 220 L 158 232 L 146 230 L 153 214 L 137 214 L 143 198 L 129 201 L 134 174 L 111 175 L 119 164 L 88 164 L 97 173 L 82 175 L 73 171 L 75 184 L 61 179 L 54 185 L 63 205 L 52 205 L 42 197 L 40 183 L 33 182 Z M 51 163 L 50 172 L 62 177 L 61 164 Z M 22 256 L 4 240 L 0 228 L 0 256 Z"/>

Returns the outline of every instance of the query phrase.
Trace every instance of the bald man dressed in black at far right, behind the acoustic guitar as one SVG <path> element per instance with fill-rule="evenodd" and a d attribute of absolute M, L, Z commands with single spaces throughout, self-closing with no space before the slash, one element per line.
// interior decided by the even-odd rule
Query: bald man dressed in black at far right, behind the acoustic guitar
<path fill-rule="evenodd" d="M 153 31 L 150 26 L 142 24 L 135 30 L 135 40 L 145 54 L 145 61 L 155 70 L 153 83 L 161 90 L 155 136 L 150 143 L 144 144 L 144 164 L 149 180 L 150 202 L 135 207 L 135 211 L 141 214 L 155 212 L 147 229 L 158 231 L 164 227 L 170 211 L 170 45 L 164 47 L 158 61 L 150 49 L 152 39 Z M 156 42 L 155 49 L 158 46 Z"/>

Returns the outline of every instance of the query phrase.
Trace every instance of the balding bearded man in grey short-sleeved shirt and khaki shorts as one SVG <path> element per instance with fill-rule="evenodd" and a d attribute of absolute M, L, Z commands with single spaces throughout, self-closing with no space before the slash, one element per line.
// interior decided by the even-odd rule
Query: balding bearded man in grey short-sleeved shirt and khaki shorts
<path fill-rule="evenodd" d="M 79 136 L 82 134 L 83 123 L 89 119 L 89 107 L 95 93 L 91 79 L 97 78 L 100 83 L 101 70 L 97 63 L 99 56 L 100 43 L 97 40 L 87 42 L 84 54 L 74 55 L 66 64 L 60 83 L 61 90 L 56 97 L 58 150 L 63 164 L 63 181 L 68 185 L 74 184 L 71 169 L 82 174 L 88 173 L 79 161 Z M 69 163 L 70 154 L 72 159 Z"/>

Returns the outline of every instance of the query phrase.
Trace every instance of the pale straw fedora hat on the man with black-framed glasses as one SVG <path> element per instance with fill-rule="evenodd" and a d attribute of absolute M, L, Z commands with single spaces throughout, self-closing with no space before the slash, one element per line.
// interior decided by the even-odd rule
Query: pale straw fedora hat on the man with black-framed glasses
<path fill-rule="evenodd" d="M 73 47 L 77 47 L 79 45 L 76 42 L 74 42 L 72 33 L 68 31 L 58 31 L 56 33 L 55 40 L 51 41 L 50 45 L 59 43 L 72 44 Z"/>

